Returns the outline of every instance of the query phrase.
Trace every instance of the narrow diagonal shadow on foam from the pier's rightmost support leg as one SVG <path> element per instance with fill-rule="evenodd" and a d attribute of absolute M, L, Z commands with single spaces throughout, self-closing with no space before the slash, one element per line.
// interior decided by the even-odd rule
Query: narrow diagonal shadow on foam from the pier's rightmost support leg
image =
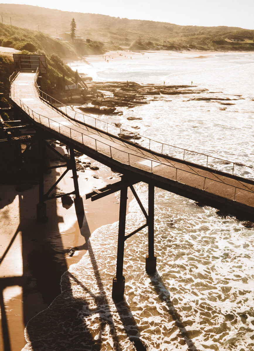
<path fill-rule="evenodd" d="M 149 277 L 153 285 L 153 289 L 157 293 L 160 301 L 167 305 L 169 314 L 174 320 L 175 326 L 179 329 L 181 337 L 188 346 L 188 351 L 198 351 L 193 341 L 191 340 L 189 332 L 186 330 L 185 325 L 181 320 L 181 316 L 174 307 L 170 299 L 170 292 L 167 290 L 167 287 L 165 286 L 159 273 L 156 272 L 154 274 L 149 275 Z"/>

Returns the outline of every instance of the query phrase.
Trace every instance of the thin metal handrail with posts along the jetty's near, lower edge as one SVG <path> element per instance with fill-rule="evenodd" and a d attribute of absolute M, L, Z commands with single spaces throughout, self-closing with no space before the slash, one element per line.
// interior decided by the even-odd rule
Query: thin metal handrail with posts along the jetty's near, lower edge
<path fill-rule="evenodd" d="M 104 150 L 104 154 L 107 155 L 108 157 L 112 158 L 112 159 L 114 159 L 113 156 L 112 156 L 112 151 L 113 151 L 113 150 L 116 150 L 118 153 L 121 152 L 121 153 L 127 154 L 127 157 L 128 157 L 127 160 L 128 160 L 128 161 L 127 161 L 127 163 L 126 163 L 126 162 L 123 162 L 123 161 L 121 160 L 121 163 L 123 163 L 123 164 L 129 165 L 129 166 L 134 167 L 134 168 L 138 168 L 138 167 L 135 166 L 136 157 L 138 156 L 140 159 L 144 159 L 144 160 L 149 160 L 149 161 L 151 161 L 151 173 L 153 173 L 153 161 L 154 161 L 155 163 L 158 163 L 157 160 L 154 160 L 154 159 L 151 159 L 151 158 L 142 157 L 142 156 L 136 155 L 136 154 L 134 154 L 134 153 L 132 153 L 132 152 L 127 152 L 127 151 L 119 150 L 118 148 L 115 148 L 115 147 L 113 147 L 113 146 L 111 146 L 111 145 L 108 145 L 108 144 L 104 143 L 103 141 L 99 141 L 99 140 L 97 140 L 96 138 L 91 137 L 90 135 L 83 134 L 83 133 L 81 133 L 81 132 L 79 132 L 79 131 L 77 131 L 77 130 L 75 130 L 75 129 L 72 129 L 72 128 L 68 127 L 68 126 L 65 126 L 64 124 L 62 124 L 62 123 L 60 123 L 60 122 L 56 122 L 55 120 L 50 119 L 49 117 L 40 115 L 39 113 L 33 111 L 30 107 L 28 107 L 27 105 L 25 105 L 24 102 L 23 102 L 22 100 L 20 100 L 20 99 L 15 99 L 15 100 L 19 100 L 21 109 L 24 110 L 24 111 L 30 116 L 30 118 L 32 118 L 36 123 L 40 123 L 40 124 L 41 124 L 42 119 L 45 118 L 45 119 L 48 121 L 49 126 L 47 127 L 47 126 L 44 125 L 44 128 L 50 128 L 51 130 L 55 130 L 55 131 L 57 131 L 57 132 L 59 132 L 59 133 L 61 133 L 61 128 L 65 128 L 65 130 L 66 130 L 66 128 L 67 128 L 67 129 L 70 130 L 70 138 L 71 138 L 72 140 L 75 140 L 75 141 L 78 142 L 78 143 L 81 143 L 81 139 L 78 140 L 77 137 L 75 137 L 75 134 L 77 134 L 77 133 L 80 134 L 80 136 L 81 136 L 81 138 L 82 138 L 82 145 L 87 145 L 87 144 L 84 144 L 84 138 L 93 139 L 93 140 L 95 141 L 95 145 L 94 145 L 95 147 L 92 147 L 92 146 L 89 146 L 89 147 L 92 148 L 92 149 L 95 150 L 95 151 L 100 151 L 99 148 L 98 148 L 98 144 L 101 143 L 101 144 L 103 144 L 103 145 L 106 145 L 107 147 L 109 147 L 109 154 L 110 154 L 110 155 L 108 155 L 108 154 L 105 152 L 105 150 Z M 37 116 L 37 117 L 36 117 L 36 116 Z M 50 125 L 50 122 L 51 122 L 52 124 L 55 124 L 55 127 L 56 127 L 56 128 L 53 128 L 53 127 L 52 127 L 52 124 Z M 57 126 L 57 125 L 58 125 L 58 126 Z M 72 131 L 72 133 L 71 133 L 71 131 Z M 63 134 L 63 131 L 62 131 L 62 134 Z M 64 135 L 64 134 L 63 134 L 63 135 Z M 69 138 L 68 135 L 65 135 L 65 136 L 67 136 L 67 137 Z M 133 164 L 132 164 L 132 162 L 131 162 L 131 158 L 130 158 L 131 156 L 134 156 L 134 157 L 135 157 L 135 158 L 134 158 L 135 161 L 134 161 Z M 163 164 L 163 165 L 165 165 L 165 166 L 167 166 L 167 167 L 174 168 L 174 169 L 176 170 L 176 174 L 175 174 L 175 176 L 173 176 L 172 178 L 175 178 L 175 179 L 172 179 L 172 178 L 169 178 L 169 179 L 170 179 L 170 180 L 173 180 L 173 181 L 176 181 L 176 182 L 178 182 L 178 183 L 181 183 L 181 184 L 185 184 L 185 183 L 182 183 L 182 182 L 180 181 L 181 178 L 179 179 L 179 176 L 178 176 L 178 174 L 177 174 L 177 173 L 178 173 L 177 171 L 185 172 L 185 173 L 190 173 L 190 174 L 192 174 L 192 175 L 195 174 L 195 173 L 193 173 L 193 172 L 186 171 L 186 170 L 182 170 L 181 168 L 178 168 L 178 167 L 176 167 L 176 166 L 172 166 L 172 165 L 166 164 L 166 163 L 161 162 L 161 161 L 159 161 L 159 163 L 160 163 L 160 164 Z M 140 168 L 138 168 L 138 169 L 140 169 Z M 243 189 L 243 188 L 234 186 L 234 185 L 232 185 L 232 184 L 226 183 L 225 181 L 221 181 L 221 180 L 218 180 L 218 179 L 213 179 L 213 178 L 210 178 L 210 177 L 205 177 L 205 176 L 202 176 L 202 175 L 200 175 L 200 174 L 196 174 L 196 175 L 197 175 L 198 177 L 201 177 L 201 178 L 204 179 L 203 187 L 201 187 L 200 190 L 205 191 L 205 181 L 206 181 L 206 180 L 212 180 L 212 181 L 215 181 L 216 183 L 221 183 L 221 184 L 228 185 L 228 186 L 232 187 L 233 190 L 234 190 L 234 198 L 233 198 L 233 196 L 232 196 L 231 198 L 233 198 L 233 201 L 236 201 L 236 202 L 238 202 L 238 203 L 242 203 L 242 202 L 236 200 L 236 195 L 237 195 L 236 191 L 237 191 L 237 189 L 239 189 L 241 192 L 242 192 L 242 191 L 247 191 L 247 192 L 249 192 L 249 193 L 254 193 L 254 191 L 252 191 L 252 190 Z"/>

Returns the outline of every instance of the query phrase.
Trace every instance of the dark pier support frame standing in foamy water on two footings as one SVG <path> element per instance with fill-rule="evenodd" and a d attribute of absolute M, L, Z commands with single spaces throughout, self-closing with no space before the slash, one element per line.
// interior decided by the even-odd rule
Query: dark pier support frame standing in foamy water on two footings
<path fill-rule="evenodd" d="M 86 198 L 91 198 L 92 201 L 101 197 L 107 196 L 116 191 L 120 193 L 120 210 L 119 210 L 119 227 L 118 227 L 118 246 L 116 259 L 116 275 L 113 278 L 112 298 L 115 301 L 121 301 L 124 298 L 125 277 L 123 276 L 123 257 L 125 240 L 138 233 L 140 230 L 148 226 L 148 254 L 146 255 L 146 272 L 152 274 L 156 271 L 157 259 L 154 255 L 154 185 L 148 184 L 148 214 L 142 205 L 138 194 L 136 193 L 133 184 L 138 183 L 138 180 L 129 180 L 122 176 L 122 180 L 115 184 L 109 184 L 100 190 L 95 189 L 93 192 L 86 194 Z M 126 208 L 127 208 L 127 190 L 131 189 L 136 201 L 138 202 L 141 211 L 143 212 L 146 223 L 134 230 L 132 233 L 125 235 L 126 224 Z"/>

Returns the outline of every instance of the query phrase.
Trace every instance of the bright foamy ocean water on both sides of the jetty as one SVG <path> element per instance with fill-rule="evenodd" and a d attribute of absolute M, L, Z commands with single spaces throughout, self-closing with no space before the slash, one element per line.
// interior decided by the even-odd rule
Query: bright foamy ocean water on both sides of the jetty
<path fill-rule="evenodd" d="M 133 55 L 135 59 L 115 57 L 109 63 L 91 57 L 90 64 L 80 62 L 73 68 L 97 81 L 163 84 L 165 80 L 170 85 L 193 81 L 208 90 L 150 101 L 133 111 L 121 108 L 122 116 L 100 119 L 122 122 L 128 130 L 139 126 L 145 137 L 254 166 L 254 54 Z M 192 100 L 197 97 L 235 99 L 230 101 L 235 105 Z M 128 121 L 131 115 L 142 120 Z M 147 208 L 147 185 L 135 188 Z M 88 252 L 63 275 L 62 294 L 28 323 L 29 342 L 23 350 L 127 351 L 144 350 L 146 345 L 151 351 L 252 351 L 254 230 L 231 216 L 218 216 L 214 208 L 198 207 L 158 188 L 154 220 L 154 275 L 145 272 L 148 245 L 143 230 L 125 242 L 125 301 L 114 304 L 118 223 L 97 229 L 88 241 Z M 132 200 L 126 234 L 144 221 Z"/>

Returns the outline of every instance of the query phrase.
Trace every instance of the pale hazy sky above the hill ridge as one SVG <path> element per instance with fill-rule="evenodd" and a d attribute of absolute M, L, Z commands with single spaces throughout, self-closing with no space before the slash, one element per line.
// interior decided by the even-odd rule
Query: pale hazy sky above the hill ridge
<path fill-rule="evenodd" d="M 254 29 L 254 0 L 4 0 L 3 2 L 179 25 L 224 25 Z"/>

